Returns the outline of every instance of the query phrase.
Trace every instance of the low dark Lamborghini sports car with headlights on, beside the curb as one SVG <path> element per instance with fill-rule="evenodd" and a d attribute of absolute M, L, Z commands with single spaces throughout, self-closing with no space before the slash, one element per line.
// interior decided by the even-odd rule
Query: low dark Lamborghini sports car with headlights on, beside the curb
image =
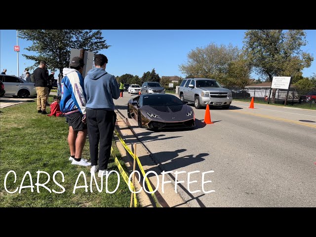
<path fill-rule="evenodd" d="M 149 129 L 195 126 L 192 108 L 170 94 L 144 94 L 130 99 L 127 103 L 127 117 L 134 118 L 139 127 Z"/>

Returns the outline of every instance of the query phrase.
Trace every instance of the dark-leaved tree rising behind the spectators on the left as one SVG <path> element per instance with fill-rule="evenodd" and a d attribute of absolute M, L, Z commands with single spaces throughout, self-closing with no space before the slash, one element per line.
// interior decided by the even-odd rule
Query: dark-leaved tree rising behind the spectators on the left
<path fill-rule="evenodd" d="M 35 64 L 30 67 L 36 68 L 39 61 L 44 60 L 48 69 L 68 68 L 70 51 L 72 48 L 85 49 L 98 53 L 111 45 L 106 43 L 100 30 L 19 30 L 19 38 L 31 40 L 33 44 L 28 51 L 36 52 L 36 55 L 22 54 L 26 59 L 34 60 Z"/>

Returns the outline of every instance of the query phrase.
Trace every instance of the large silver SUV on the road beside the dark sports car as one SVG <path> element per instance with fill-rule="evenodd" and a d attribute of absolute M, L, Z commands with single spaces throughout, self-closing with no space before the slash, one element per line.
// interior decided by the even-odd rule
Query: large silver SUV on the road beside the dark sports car
<path fill-rule="evenodd" d="M 194 102 L 199 109 L 202 106 L 222 106 L 228 109 L 233 101 L 232 91 L 223 88 L 215 79 L 187 78 L 179 87 L 179 97 L 182 101 Z"/>

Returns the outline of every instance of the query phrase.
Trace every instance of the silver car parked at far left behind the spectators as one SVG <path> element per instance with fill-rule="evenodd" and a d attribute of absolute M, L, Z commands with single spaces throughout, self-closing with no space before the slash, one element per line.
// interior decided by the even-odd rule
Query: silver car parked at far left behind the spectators
<path fill-rule="evenodd" d="M 35 96 L 37 94 L 35 85 L 32 82 L 28 82 L 13 75 L 2 74 L 0 75 L 0 80 L 4 84 L 4 95 L 13 95 L 27 98 L 29 96 Z"/>

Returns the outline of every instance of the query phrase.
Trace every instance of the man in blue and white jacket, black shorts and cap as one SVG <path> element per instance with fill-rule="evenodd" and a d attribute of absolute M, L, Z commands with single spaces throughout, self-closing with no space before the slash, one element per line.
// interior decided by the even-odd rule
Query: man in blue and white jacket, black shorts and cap
<path fill-rule="evenodd" d="M 69 160 L 72 161 L 72 164 L 90 166 L 90 162 L 81 159 L 87 136 L 86 94 L 81 76 L 83 66 L 83 59 L 74 57 L 70 62 L 70 68 L 63 69 L 64 78 L 61 81 L 60 110 L 68 118 Z"/>

